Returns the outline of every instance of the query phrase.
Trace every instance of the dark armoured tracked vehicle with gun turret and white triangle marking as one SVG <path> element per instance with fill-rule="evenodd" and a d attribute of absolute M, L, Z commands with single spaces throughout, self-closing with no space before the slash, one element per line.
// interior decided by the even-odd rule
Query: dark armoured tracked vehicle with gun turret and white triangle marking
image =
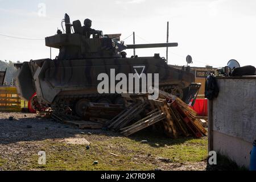
<path fill-rule="evenodd" d="M 159 88 L 175 94 L 189 102 L 199 90 L 193 84 L 192 73 L 168 66 L 166 59 L 154 54 L 152 57 L 126 57 L 125 49 L 176 47 L 177 43 L 125 45 L 117 39 L 103 35 L 102 31 L 85 35 L 80 20 L 70 23 L 65 14 L 65 30 L 46 38 L 46 46 L 59 49 L 55 59 L 31 60 L 16 64 L 18 76 L 16 86 L 24 100 L 30 100 L 36 93 L 34 106 L 51 106 L 53 110 L 65 112 L 72 110 L 82 115 L 88 102 L 121 104 L 122 97 L 117 93 L 98 93 L 98 75 L 111 76 L 123 73 L 159 73 Z M 73 33 L 72 33 L 73 30 Z M 141 69 L 141 71 L 138 71 Z M 153 85 L 154 86 L 154 85 Z"/>

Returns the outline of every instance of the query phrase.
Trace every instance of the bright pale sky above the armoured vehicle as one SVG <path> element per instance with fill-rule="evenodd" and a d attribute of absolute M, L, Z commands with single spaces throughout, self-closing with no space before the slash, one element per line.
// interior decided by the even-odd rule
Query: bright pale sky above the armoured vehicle
<path fill-rule="evenodd" d="M 46 5 L 46 16 L 39 16 L 43 12 L 40 3 Z M 185 57 L 191 55 L 192 66 L 224 67 L 230 59 L 256 66 L 255 9 L 255 0 L 0 0 L 0 34 L 44 39 L 56 34 L 68 13 L 71 22 L 92 19 L 92 28 L 104 34 L 122 33 L 121 39 L 125 39 L 135 31 L 136 43 L 164 43 L 170 21 L 170 42 L 179 43 L 179 47 L 169 49 L 169 64 L 185 65 Z M 132 44 L 132 36 L 125 43 Z M 57 53 L 54 50 L 52 57 Z M 154 53 L 166 57 L 166 48 L 137 49 L 138 56 Z M 44 40 L 0 35 L 0 60 L 48 57 Z"/>

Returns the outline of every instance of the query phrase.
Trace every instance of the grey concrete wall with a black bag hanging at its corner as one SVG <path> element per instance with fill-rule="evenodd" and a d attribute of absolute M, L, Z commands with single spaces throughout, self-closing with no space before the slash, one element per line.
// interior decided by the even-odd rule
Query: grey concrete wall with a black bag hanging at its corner
<path fill-rule="evenodd" d="M 256 140 L 256 77 L 222 77 L 217 82 L 220 93 L 209 107 L 209 150 L 249 168 Z"/>

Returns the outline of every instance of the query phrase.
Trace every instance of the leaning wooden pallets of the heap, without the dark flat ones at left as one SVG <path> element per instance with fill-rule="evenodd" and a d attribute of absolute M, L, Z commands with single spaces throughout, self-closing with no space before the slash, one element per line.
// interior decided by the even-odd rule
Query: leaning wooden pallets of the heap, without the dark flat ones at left
<path fill-rule="evenodd" d="M 148 100 L 147 96 L 148 94 L 126 94 L 124 98 L 134 104 L 107 122 L 108 128 L 129 136 L 148 126 L 160 124 L 171 138 L 199 138 L 207 135 L 207 130 L 200 124 L 199 119 L 196 119 L 196 111 L 180 98 L 160 90 L 158 100 Z M 148 107 L 151 111 L 147 110 Z M 135 116 L 138 114 L 144 117 L 136 120 Z"/>

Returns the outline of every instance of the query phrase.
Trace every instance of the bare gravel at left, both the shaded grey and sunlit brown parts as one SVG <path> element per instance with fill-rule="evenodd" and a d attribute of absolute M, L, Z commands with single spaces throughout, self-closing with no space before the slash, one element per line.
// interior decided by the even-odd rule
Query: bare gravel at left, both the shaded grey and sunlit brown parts
<path fill-rule="evenodd" d="M 9 117 L 13 117 L 13 121 Z M 80 130 L 37 114 L 0 112 L 0 160 L 8 160 L 7 166 L 0 166 L 0 170 L 22 169 L 29 163 L 27 158 L 42 150 L 41 142 L 44 140 L 79 138 L 81 133 L 88 132 L 104 133 L 101 130 Z"/>

